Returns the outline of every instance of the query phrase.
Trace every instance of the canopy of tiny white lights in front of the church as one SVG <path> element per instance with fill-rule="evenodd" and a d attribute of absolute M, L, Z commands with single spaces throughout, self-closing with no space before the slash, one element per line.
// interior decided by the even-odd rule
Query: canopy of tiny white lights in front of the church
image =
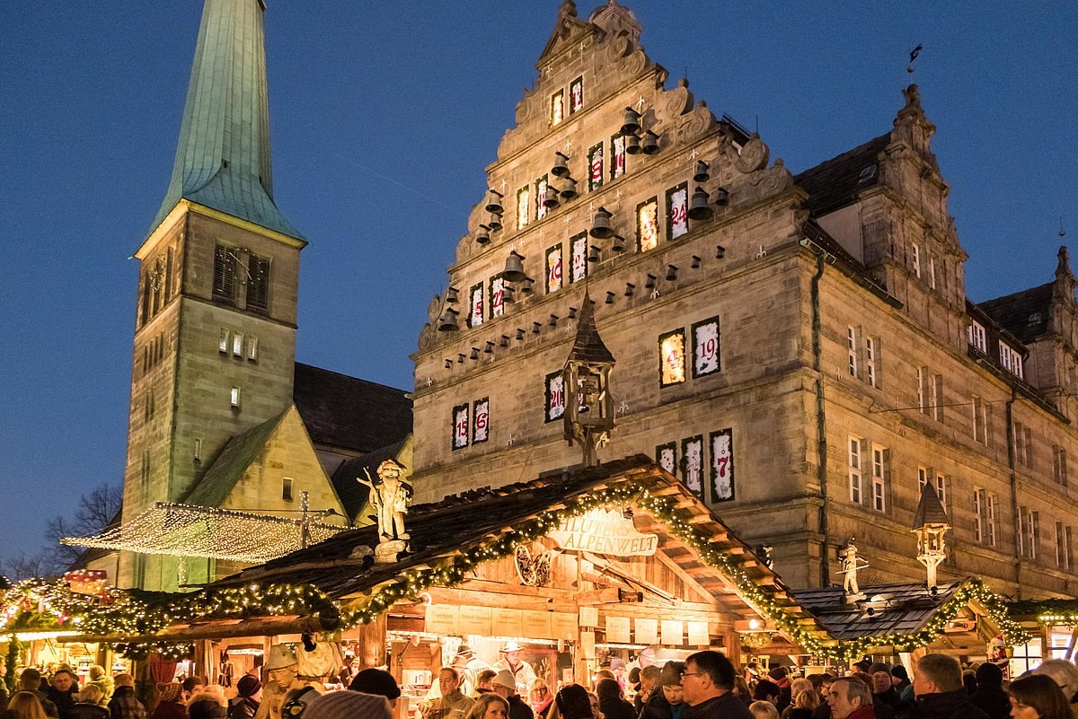
<path fill-rule="evenodd" d="M 93 537 L 65 537 L 65 545 L 116 549 L 142 554 L 207 556 L 261 563 L 305 545 L 329 539 L 346 528 L 308 519 L 158 502 L 129 522 Z"/>

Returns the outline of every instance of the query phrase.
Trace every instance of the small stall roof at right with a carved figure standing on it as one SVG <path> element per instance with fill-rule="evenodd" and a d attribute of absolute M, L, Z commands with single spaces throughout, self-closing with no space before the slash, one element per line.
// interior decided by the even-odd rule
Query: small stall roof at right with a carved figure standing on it
<path fill-rule="evenodd" d="M 844 602 L 841 587 L 799 589 L 793 598 L 835 639 L 856 639 L 917 632 L 965 583 L 940 582 L 935 595 L 924 583 L 861 587 L 865 602 Z"/>

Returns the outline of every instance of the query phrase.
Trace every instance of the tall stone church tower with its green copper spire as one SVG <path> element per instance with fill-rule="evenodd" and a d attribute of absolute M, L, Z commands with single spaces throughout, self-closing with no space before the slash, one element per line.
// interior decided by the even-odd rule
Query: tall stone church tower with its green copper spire
<path fill-rule="evenodd" d="M 300 250 L 273 198 L 262 0 L 206 0 L 171 180 L 139 259 L 124 521 L 181 502 L 292 404 Z M 279 492 L 279 488 L 274 489 Z M 120 587 L 212 561 L 124 552 Z"/>

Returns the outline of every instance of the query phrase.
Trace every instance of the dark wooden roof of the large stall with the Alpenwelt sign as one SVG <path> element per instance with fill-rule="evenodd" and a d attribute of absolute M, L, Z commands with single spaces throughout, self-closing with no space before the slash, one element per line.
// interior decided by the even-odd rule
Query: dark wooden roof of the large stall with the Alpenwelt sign
<path fill-rule="evenodd" d="M 747 576 L 771 601 L 796 618 L 821 643 L 833 638 L 793 598 L 782 579 L 737 539 L 695 495 L 676 477 L 637 454 L 597 467 L 569 467 L 545 473 L 528 482 L 498 489 L 482 489 L 425 505 L 415 505 L 407 513 L 411 554 L 396 563 L 374 564 L 368 548 L 378 541 L 376 527 L 365 526 L 342 532 L 307 549 L 244 569 L 218 580 L 212 588 L 239 587 L 245 583 L 310 583 L 333 598 L 359 597 L 375 588 L 397 580 L 411 568 L 438 566 L 476 544 L 496 539 L 542 512 L 563 508 L 566 503 L 619 487 L 647 490 L 673 503 L 674 512 L 691 523 L 724 554 L 736 570 Z M 682 544 L 664 522 L 647 512 L 637 514 L 641 531 L 662 537 L 661 550 L 717 598 L 727 600 L 750 612 L 750 604 L 738 591 L 735 580 L 718 567 L 705 563 Z M 765 612 L 760 612 L 766 616 Z"/>

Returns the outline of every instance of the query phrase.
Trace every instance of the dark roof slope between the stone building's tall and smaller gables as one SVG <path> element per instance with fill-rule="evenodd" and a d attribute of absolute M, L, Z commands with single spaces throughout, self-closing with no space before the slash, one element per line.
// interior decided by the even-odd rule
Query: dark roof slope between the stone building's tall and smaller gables
<path fill-rule="evenodd" d="M 879 156 L 888 142 L 890 133 L 881 135 L 796 175 L 793 184 L 808 193 L 805 207 L 812 216 L 851 205 L 861 191 L 879 184 Z"/>

